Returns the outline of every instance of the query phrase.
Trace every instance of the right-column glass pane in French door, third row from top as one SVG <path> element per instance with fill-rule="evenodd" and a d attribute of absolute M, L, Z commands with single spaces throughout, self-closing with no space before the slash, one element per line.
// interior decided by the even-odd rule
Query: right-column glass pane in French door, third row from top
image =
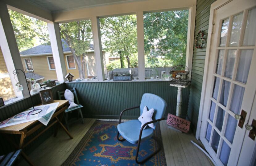
<path fill-rule="evenodd" d="M 234 85 L 230 110 L 235 114 L 240 113 L 244 92 L 245 92 L 244 87 L 236 85 L 236 84 Z"/>

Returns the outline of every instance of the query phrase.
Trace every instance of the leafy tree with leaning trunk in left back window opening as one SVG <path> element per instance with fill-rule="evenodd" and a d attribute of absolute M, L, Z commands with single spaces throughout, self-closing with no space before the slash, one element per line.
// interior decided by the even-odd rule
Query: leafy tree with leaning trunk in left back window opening
<path fill-rule="evenodd" d="M 92 41 L 91 21 L 68 22 L 59 24 L 59 26 L 61 38 L 68 43 L 76 61 L 80 78 L 85 78 L 85 56 Z"/>

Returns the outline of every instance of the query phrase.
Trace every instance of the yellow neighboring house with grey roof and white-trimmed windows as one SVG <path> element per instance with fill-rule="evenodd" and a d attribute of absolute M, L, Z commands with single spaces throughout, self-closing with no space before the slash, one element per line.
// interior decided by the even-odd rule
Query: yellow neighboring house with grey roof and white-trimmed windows
<path fill-rule="evenodd" d="M 68 47 L 68 44 L 64 40 L 62 40 L 62 48 L 67 73 L 72 73 L 75 78 L 79 78 L 77 64 L 74 61 L 74 57 Z M 103 53 L 103 55 L 105 54 Z M 40 80 L 37 80 L 38 82 L 57 80 L 51 45 L 35 46 L 31 49 L 20 52 L 20 56 L 24 69 L 32 68 L 34 73 L 43 76 L 39 78 Z M 86 53 L 85 62 L 85 77 L 95 77 L 96 64 L 93 44 L 90 44 L 89 46 L 89 50 Z"/>

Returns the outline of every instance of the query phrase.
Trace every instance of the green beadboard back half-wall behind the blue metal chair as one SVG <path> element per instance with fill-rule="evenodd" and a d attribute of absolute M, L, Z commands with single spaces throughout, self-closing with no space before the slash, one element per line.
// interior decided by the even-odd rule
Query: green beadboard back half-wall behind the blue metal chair
<path fill-rule="evenodd" d="M 167 102 L 167 113 L 176 114 L 177 88 L 169 86 L 169 81 L 132 82 L 92 82 L 66 83 L 67 88 L 75 87 L 78 99 L 84 106 L 85 117 L 119 118 L 123 109 L 140 105 L 144 93 L 153 93 Z M 189 87 L 182 92 L 182 111 L 188 108 Z M 138 109 L 127 111 L 124 119 L 138 118 Z"/>

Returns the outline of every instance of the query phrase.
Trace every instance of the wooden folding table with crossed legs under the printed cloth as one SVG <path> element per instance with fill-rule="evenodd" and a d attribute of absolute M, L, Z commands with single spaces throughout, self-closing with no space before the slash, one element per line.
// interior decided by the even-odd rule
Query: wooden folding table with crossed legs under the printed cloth
<path fill-rule="evenodd" d="M 54 132 L 54 136 L 57 135 L 58 128 L 60 125 L 64 129 L 64 131 L 68 134 L 70 139 L 73 139 L 72 135 L 68 132 L 68 130 L 61 123 L 64 113 L 65 113 L 65 110 L 68 108 L 68 100 L 55 100 L 54 102 L 55 103 L 59 102 L 59 105 L 51 118 L 51 121 L 53 119 L 55 119 L 55 121 L 53 121 L 52 123 L 49 123 L 46 126 L 46 128 L 43 129 L 43 131 L 39 132 L 39 134 L 37 134 L 35 137 L 33 137 L 31 140 L 27 141 L 26 143 L 25 143 L 25 140 L 26 140 L 27 136 L 31 135 L 32 133 L 37 131 L 39 128 L 44 126 L 41 122 L 35 120 L 35 121 L 29 121 L 26 123 L 15 124 L 12 126 L 3 127 L 3 128 L 0 128 L 0 133 L 2 133 L 3 136 L 6 138 L 6 140 L 8 140 L 11 144 L 13 144 L 15 148 L 22 149 L 22 148 L 25 148 L 28 144 L 30 144 L 37 137 L 39 137 L 41 134 L 43 134 L 43 132 L 45 132 L 47 129 L 52 127 L 52 125 L 54 125 L 55 123 L 58 122 L 55 132 Z M 59 116 L 59 117 L 57 117 L 57 116 Z M 21 137 L 20 137 L 19 145 L 15 144 L 15 142 L 10 139 L 10 136 L 8 134 L 20 134 Z M 23 151 L 21 152 L 21 154 L 30 165 L 34 165 Z"/>

